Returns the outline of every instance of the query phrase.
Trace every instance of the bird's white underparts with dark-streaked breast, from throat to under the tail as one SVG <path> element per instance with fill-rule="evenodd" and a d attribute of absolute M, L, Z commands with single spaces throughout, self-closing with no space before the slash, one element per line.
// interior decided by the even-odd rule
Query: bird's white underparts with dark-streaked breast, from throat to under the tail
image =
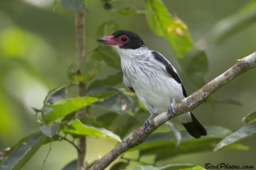
<path fill-rule="evenodd" d="M 152 58 L 147 48 L 139 50 L 116 49 L 121 57 L 121 66 L 124 73 L 124 84 L 132 87 L 140 102 L 148 111 L 153 106 L 157 113 L 167 110 L 170 103 L 176 104 L 184 99 L 182 86 L 175 81 Z M 182 123 L 191 122 L 190 113 L 177 117 Z"/>

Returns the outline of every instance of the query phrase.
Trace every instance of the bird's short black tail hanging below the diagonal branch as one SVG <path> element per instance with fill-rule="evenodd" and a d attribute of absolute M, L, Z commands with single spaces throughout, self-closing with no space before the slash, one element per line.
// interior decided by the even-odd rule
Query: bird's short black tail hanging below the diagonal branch
<path fill-rule="evenodd" d="M 206 136 L 207 132 L 204 129 L 204 127 L 196 120 L 195 116 L 190 112 L 192 122 L 183 124 L 183 126 L 187 129 L 188 133 L 197 139 L 199 139 L 201 136 Z"/>

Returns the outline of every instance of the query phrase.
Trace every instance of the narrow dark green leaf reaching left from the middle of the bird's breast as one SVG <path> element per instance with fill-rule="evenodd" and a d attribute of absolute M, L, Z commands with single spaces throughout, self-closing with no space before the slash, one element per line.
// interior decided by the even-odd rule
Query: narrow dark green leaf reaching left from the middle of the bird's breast
<path fill-rule="evenodd" d="M 119 72 L 115 75 L 109 75 L 108 77 L 105 78 L 98 78 L 94 80 L 88 87 L 87 91 L 94 88 L 98 87 L 101 85 L 110 85 L 110 86 L 115 86 L 118 85 L 119 83 L 123 82 L 123 72 Z"/>

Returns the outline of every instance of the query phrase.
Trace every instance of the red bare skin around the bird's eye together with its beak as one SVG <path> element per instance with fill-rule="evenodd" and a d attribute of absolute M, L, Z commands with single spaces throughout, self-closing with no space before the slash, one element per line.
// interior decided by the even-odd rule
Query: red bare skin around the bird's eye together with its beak
<path fill-rule="evenodd" d="M 126 37 L 127 40 L 126 41 L 122 41 L 123 37 Z M 117 46 L 117 45 L 123 45 L 123 44 L 127 43 L 129 41 L 129 38 L 126 35 L 121 35 L 121 36 L 119 36 L 117 38 L 114 38 L 114 36 L 111 35 L 111 36 L 107 36 L 107 37 L 98 38 L 96 41 L 104 43 L 104 44 L 109 44 L 109 45 Z"/>

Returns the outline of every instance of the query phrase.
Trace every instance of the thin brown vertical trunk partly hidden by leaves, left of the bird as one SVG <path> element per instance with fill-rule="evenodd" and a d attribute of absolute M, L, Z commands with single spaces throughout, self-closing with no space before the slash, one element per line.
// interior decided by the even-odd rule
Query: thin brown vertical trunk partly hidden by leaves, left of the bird
<path fill-rule="evenodd" d="M 86 62 L 85 53 L 85 11 L 76 12 L 76 64 Z M 81 81 L 77 87 L 77 95 L 82 97 L 86 95 L 86 82 Z M 76 111 L 76 118 L 81 119 L 86 116 L 86 107 Z M 86 138 L 78 138 L 77 145 L 84 149 L 84 152 L 78 152 L 77 170 L 86 170 Z"/>

